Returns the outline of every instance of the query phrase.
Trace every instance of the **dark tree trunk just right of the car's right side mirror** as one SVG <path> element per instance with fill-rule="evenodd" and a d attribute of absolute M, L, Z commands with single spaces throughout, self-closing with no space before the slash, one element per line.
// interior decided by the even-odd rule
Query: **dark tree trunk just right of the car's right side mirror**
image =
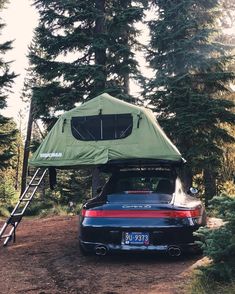
<path fill-rule="evenodd" d="M 216 195 L 216 177 L 210 168 L 205 168 L 203 172 L 205 185 L 205 206 L 208 207 L 209 200 Z"/>

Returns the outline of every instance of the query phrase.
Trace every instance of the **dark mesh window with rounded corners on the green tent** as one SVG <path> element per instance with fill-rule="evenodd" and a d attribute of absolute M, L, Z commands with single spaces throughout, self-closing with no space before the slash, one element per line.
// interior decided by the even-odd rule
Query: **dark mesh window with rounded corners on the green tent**
<path fill-rule="evenodd" d="M 116 140 L 128 137 L 132 132 L 131 114 L 100 114 L 72 117 L 73 136 L 81 141 Z"/>

